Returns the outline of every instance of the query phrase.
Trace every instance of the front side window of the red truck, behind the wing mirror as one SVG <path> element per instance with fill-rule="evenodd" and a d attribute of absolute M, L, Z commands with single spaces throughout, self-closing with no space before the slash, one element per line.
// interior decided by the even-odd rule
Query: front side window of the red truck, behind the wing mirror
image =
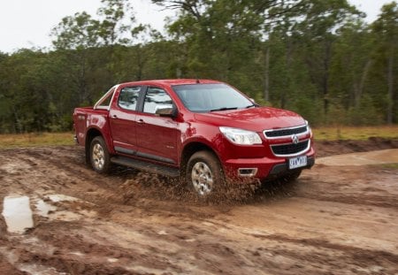
<path fill-rule="evenodd" d="M 143 111 L 151 114 L 159 109 L 172 108 L 172 98 L 163 88 L 149 87 L 145 95 Z"/>

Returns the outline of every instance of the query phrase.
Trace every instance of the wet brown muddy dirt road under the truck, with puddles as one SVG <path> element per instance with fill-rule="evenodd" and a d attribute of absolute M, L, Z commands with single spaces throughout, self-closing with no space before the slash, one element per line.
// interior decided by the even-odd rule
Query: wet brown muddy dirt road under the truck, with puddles
<path fill-rule="evenodd" d="M 0 274 L 398 274 L 398 150 L 377 156 L 211 205 L 78 147 L 1 149 Z"/>

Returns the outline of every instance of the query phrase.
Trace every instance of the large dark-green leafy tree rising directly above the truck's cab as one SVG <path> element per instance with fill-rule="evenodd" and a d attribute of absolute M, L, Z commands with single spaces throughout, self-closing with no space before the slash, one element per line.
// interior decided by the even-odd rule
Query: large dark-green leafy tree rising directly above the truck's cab
<path fill-rule="evenodd" d="M 249 84 L 249 73 L 258 72 L 251 65 L 256 64 L 253 61 L 264 24 L 277 13 L 274 8 L 279 6 L 279 11 L 284 11 L 282 6 L 297 3 L 276 0 L 153 2 L 180 11 L 179 18 L 169 25 L 169 32 L 187 46 L 183 48 L 187 51 L 181 53 L 187 57 L 187 71 L 181 74 L 229 80 L 233 84 L 237 79 Z M 275 12 L 272 13 L 272 9 Z M 258 91 L 253 86 L 244 88 L 251 93 Z"/>

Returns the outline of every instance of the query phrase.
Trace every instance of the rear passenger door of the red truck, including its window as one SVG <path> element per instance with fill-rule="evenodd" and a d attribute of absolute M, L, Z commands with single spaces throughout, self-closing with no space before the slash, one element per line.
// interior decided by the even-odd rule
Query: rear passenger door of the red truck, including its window
<path fill-rule="evenodd" d="M 142 86 L 128 86 L 117 93 L 109 113 L 114 149 L 134 155 L 137 151 L 135 121 Z"/>

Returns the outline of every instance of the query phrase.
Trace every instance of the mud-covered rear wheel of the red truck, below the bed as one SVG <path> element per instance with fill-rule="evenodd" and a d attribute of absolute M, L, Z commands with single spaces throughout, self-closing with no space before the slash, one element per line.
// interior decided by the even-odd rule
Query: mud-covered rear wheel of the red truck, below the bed
<path fill-rule="evenodd" d="M 94 171 L 99 173 L 109 172 L 111 157 L 102 136 L 96 136 L 90 143 L 90 164 Z"/>

